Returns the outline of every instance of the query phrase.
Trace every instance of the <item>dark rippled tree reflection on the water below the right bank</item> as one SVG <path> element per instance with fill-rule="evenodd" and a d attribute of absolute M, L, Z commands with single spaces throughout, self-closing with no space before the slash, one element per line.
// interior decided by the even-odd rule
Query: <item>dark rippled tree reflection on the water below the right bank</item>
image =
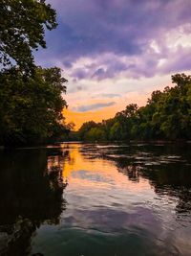
<path fill-rule="evenodd" d="M 110 157 L 111 154 L 113 157 Z M 99 157 L 114 161 L 118 172 L 127 175 L 129 180 L 139 182 L 140 177 L 145 178 L 160 196 L 178 198 L 175 209 L 178 215 L 191 213 L 191 151 L 189 145 L 118 147 L 114 151 L 104 149 L 99 155 Z"/>

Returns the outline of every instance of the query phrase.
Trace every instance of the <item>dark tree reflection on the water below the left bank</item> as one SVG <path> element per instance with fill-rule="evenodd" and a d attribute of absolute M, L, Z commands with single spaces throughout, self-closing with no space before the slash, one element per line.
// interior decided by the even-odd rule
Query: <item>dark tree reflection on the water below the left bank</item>
<path fill-rule="evenodd" d="M 0 255 L 28 255 L 35 229 L 66 208 L 62 151 L 2 151 L 0 162 Z"/>

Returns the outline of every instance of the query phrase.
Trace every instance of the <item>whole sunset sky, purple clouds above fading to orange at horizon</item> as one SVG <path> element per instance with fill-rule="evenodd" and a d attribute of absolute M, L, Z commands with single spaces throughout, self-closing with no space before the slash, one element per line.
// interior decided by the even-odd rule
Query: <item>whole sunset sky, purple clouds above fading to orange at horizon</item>
<path fill-rule="evenodd" d="M 171 75 L 191 71 L 191 0 L 48 0 L 58 27 L 36 62 L 68 79 L 66 122 L 145 105 Z"/>

